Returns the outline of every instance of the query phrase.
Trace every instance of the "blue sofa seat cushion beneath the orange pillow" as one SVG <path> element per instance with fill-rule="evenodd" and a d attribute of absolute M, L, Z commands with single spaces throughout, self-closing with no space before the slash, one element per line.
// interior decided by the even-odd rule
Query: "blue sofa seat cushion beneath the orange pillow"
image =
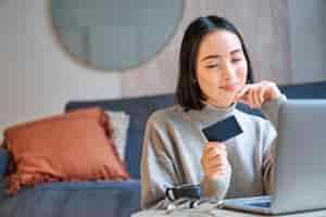
<path fill-rule="evenodd" d="M 139 180 L 42 183 L 23 188 L 17 196 L 5 188 L 2 180 L 1 217 L 129 216 L 139 210 Z"/>

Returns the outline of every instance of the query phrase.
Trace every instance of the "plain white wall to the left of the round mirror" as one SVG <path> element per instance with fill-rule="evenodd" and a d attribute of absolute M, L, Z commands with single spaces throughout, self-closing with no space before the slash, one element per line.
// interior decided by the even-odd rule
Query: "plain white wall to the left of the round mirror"
<path fill-rule="evenodd" d="M 0 1 L 0 132 L 63 111 L 71 99 L 121 97 L 121 76 L 87 69 L 53 40 L 47 0 Z"/>

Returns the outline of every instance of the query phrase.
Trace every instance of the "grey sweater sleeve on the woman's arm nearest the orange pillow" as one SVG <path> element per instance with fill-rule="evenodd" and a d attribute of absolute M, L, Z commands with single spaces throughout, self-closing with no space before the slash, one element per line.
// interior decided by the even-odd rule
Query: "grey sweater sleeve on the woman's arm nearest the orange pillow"
<path fill-rule="evenodd" d="M 147 123 L 141 156 L 141 208 L 167 206 L 165 188 L 177 184 L 177 175 L 168 153 L 171 140 L 152 116 Z"/>

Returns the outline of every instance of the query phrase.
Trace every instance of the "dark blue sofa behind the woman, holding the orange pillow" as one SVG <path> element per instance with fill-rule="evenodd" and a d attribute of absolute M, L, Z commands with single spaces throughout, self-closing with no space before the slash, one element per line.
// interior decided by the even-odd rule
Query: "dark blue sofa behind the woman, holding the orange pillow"
<path fill-rule="evenodd" d="M 326 81 L 280 86 L 291 98 L 326 99 Z M 173 94 L 129 99 L 71 101 L 65 111 L 100 106 L 125 111 L 130 115 L 125 151 L 125 164 L 131 180 L 52 182 L 24 187 L 16 196 L 5 193 L 4 177 L 10 163 L 9 153 L 0 148 L 0 216 L 1 217 L 126 217 L 140 208 L 140 157 L 147 119 L 151 113 L 174 104 Z M 238 108 L 261 115 L 259 110 L 238 103 Z"/>

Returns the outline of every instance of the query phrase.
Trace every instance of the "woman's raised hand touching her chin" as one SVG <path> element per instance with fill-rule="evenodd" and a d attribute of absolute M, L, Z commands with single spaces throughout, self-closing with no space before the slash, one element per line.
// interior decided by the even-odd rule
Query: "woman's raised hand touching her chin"
<path fill-rule="evenodd" d="M 246 85 L 236 95 L 236 102 L 243 102 L 252 108 L 259 108 L 268 100 L 277 99 L 280 91 L 275 82 L 263 80 L 259 84 Z"/>

